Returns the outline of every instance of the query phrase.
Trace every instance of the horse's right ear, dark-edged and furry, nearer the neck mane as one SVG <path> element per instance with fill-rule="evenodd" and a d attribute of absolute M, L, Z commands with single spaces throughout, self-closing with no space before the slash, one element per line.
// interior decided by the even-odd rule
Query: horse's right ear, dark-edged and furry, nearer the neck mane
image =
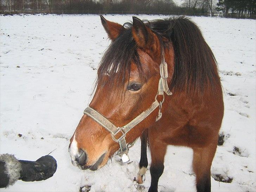
<path fill-rule="evenodd" d="M 137 17 L 133 17 L 132 34 L 137 45 L 149 55 L 159 51 L 158 37 Z"/>

